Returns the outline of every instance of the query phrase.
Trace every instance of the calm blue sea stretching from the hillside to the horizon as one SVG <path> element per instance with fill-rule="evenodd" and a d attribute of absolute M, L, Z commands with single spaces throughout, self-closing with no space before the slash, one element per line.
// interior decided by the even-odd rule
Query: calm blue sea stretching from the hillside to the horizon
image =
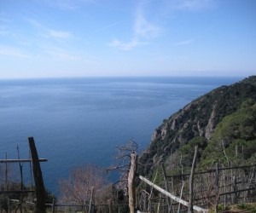
<path fill-rule="evenodd" d="M 109 166 L 117 145 L 148 146 L 164 118 L 200 95 L 242 78 L 66 78 L 0 81 L 0 158 L 28 158 L 33 136 L 46 187 L 75 166 Z M 15 167 L 15 166 L 14 166 Z M 24 165 L 27 170 L 28 165 Z M 26 180 L 29 180 L 26 172 Z M 19 178 L 17 174 L 17 178 Z"/>

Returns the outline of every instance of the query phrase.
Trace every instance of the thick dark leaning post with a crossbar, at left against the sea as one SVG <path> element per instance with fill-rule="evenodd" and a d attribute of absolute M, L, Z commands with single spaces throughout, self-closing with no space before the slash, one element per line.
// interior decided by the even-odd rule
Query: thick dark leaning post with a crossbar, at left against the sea
<path fill-rule="evenodd" d="M 45 213 L 46 212 L 45 188 L 44 188 L 42 170 L 38 160 L 38 151 L 37 151 L 33 137 L 29 137 L 28 142 L 29 142 L 30 152 L 32 156 L 33 176 L 34 176 L 36 195 L 37 195 L 37 204 L 36 204 L 35 212 Z"/>

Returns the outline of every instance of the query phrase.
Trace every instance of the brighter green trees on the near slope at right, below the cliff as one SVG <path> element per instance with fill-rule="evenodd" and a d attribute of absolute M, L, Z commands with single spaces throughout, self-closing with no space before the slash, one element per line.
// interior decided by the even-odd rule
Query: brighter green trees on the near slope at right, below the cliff
<path fill-rule="evenodd" d="M 249 99 L 217 125 L 202 154 L 201 164 L 255 162 L 256 103 Z"/>

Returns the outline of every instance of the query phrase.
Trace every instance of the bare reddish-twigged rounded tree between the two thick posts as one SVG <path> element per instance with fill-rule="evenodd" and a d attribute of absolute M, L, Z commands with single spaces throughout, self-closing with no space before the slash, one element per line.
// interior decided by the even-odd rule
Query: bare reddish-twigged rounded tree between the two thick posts
<path fill-rule="evenodd" d="M 92 190 L 95 199 L 99 199 L 107 186 L 104 170 L 93 164 L 74 168 L 67 180 L 60 180 L 61 203 L 88 204 Z"/>

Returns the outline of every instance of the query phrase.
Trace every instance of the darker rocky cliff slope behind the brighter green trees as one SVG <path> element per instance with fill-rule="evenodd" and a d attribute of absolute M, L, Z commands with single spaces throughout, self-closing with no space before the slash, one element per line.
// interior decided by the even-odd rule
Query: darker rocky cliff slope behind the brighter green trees
<path fill-rule="evenodd" d="M 154 131 L 149 147 L 140 156 L 143 173 L 196 136 L 210 140 L 222 118 L 236 112 L 247 98 L 256 101 L 256 76 L 213 89 L 174 113 Z"/>

